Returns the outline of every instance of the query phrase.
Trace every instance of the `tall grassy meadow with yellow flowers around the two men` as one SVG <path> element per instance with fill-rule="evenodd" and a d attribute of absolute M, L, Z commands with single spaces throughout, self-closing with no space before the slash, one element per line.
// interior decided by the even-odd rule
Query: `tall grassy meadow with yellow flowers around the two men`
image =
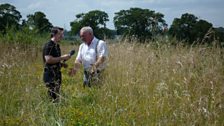
<path fill-rule="evenodd" d="M 0 43 L 0 125 L 224 125 L 222 48 L 108 42 L 103 84 L 83 88 L 82 70 L 69 77 L 62 69 L 57 104 L 42 82 L 41 46 Z"/>

